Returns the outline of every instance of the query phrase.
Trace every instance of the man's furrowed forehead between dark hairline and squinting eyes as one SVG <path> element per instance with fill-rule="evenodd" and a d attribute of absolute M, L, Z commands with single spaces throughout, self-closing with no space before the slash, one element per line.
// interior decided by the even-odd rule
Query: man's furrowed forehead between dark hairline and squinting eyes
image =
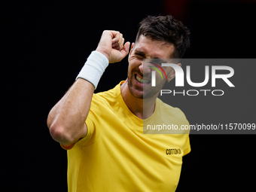
<path fill-rule="evenodd" d="M 152 41 L 150 37 L 141 35 L 134 45 L 135 52 L 144 53 L 151 59 L 170 59 L 175 47 L 165 41 Z"/>

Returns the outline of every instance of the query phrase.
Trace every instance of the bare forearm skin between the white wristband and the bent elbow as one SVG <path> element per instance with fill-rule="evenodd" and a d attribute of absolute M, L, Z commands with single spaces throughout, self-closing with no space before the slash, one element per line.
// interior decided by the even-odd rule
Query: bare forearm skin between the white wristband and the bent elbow
<path fill-rule="evenodd" d="M 90 110 L 93 92 L 93 84 L 78 78 L 52 108 L 47 118 L 47 126 L 56 142 L 69 145 L 86 136 L 84 123 Z"/>

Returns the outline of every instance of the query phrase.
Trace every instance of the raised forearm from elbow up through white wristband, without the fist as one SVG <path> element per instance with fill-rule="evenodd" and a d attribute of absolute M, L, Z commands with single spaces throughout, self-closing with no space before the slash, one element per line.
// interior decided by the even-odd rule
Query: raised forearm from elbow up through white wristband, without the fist
<path fill-rule="evenodd" d="M 78 74 L 77 81 L 53 107 L 48 117 L 50 135 L 56 142 L 73 144 L 86 136 L 84 123 L 90 110 L 93 91 L 108 66 L 108 59 L 93 51 Z"/>

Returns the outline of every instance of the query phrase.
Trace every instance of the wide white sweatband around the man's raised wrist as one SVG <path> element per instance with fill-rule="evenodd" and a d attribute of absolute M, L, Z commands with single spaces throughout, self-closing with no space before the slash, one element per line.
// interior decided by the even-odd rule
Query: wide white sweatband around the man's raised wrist
<path fill-rule="evenodd" d="M 78 74 L 78 78 L 83 78 L 93 84 L 96 89 L 99 79 L 102 77 L 103 72 L 108 66 L 108 59 L 102 53 L 94 50 L 90 53 L 90 56 L 87 58 L 84 67 L 81 69 L 81 72 Z"/>

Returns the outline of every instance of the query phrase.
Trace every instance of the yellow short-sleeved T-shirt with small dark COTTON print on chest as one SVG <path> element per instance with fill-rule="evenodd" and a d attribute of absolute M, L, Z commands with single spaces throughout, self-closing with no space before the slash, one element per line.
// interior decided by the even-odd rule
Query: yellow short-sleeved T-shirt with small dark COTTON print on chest
<path fill-rule="evenodd" d="M 87 136 L 75 145 L 62 145 L 68 154 L 69 192 L 163 192 L 178 185 L 182 157 L 190 152 L 188 134 L 143 133 L 144 122 L 126 106 L 121 84 L 93 94 Z M 166 112 L 160 114 L 162 108 Z M 168 124 L 177 119 L 188 124 L 180 109 L 157 99 L 147 120 Z"/>

